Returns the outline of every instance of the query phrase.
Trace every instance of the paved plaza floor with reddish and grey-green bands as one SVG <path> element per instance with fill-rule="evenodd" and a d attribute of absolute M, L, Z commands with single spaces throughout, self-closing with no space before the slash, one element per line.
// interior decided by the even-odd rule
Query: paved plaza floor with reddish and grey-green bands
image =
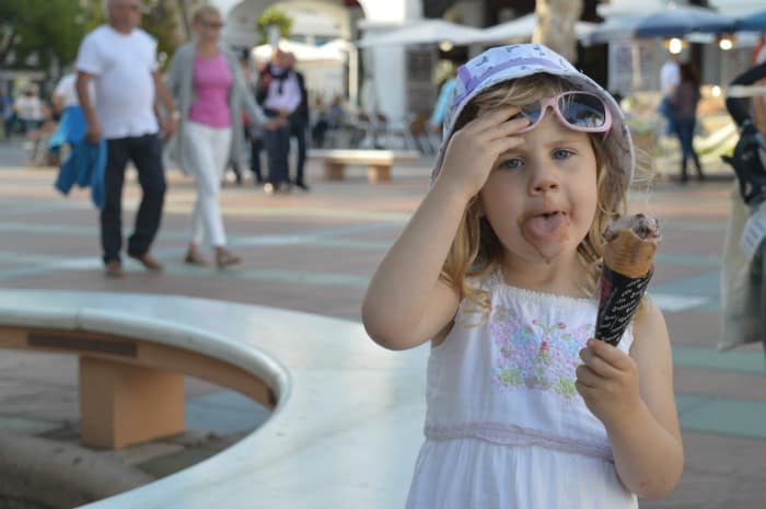
<path fill-rule="evenodd" d="M 318 165 L 310 164 L 311 193 L 269 196 L 252 181 L 228 184 L 222 192 L 227 232 L 244 263 L 225 270 L 183 263 L 195 188 L 189 177 L 171 171 L 153 248 L 165 271 L 150 275 L 126 259 L 126 277 L 115 280 L 103 275 L 89 192 L 59 195 L 53 188 L 54 169 L 25 167 L 21 146 L 0 142 L 0 285 L 197 296 L 359 321 L 372 271 L 428 188 L 430 162 L 398 165 L 392 182 L 378 185 L 367 182 L 363 167 L 349 169 L 345 181 L 327 182 Z M 665 178 L 651 193 L 634 193 L 635 211 L 658 216 L 663 229 L 650 293 L 664 310 L 673 340 L 686 451 L 677 489 L 663 500 L 641 501 L 642 508 L 766 508 L 763 347 L 716 349 L 732 188 L 727 171 L 717 170 L 719 177 L 705 183 Z M 130 175 L 124 215 L 128 233 L 139 200 Z M 209 455 L 267 417 L 244 397 L 201 381 L 189 380 L 187 397 L 192 435 L 124 451 L 121 458 L 163 475 Z M 0 351 L 0 432 L 71 441 L 77 421 L 74 358 Z"/>

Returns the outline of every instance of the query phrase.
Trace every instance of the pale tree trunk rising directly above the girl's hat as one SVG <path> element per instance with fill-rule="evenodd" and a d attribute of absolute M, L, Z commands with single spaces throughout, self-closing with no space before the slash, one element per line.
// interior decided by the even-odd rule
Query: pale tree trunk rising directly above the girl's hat
<path fill-rule="evenodd" d="M 541 43 L 559 53 L 570 62 L 577 58 L 574 25 L 582 15 L 583 0 L 537 0 L 537 26 L 533 43 Z"/>

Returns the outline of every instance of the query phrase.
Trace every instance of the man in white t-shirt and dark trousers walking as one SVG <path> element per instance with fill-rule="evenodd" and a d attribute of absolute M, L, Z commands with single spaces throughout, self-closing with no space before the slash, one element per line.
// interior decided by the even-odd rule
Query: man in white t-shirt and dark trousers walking
<path fill-rule="evenodd" d="M 128 239 L 128 256 L 149 270 L 162 269 L 149 254 L 160 228 L 165 196 L 154 95 L 170 113 L 162 117 L 165 135 L 175 131 L 178 115 L 158 70 L 156 42 L 138 27 L 140 0 L 107 0 L 106 8 L 108 24 L 88 34 L 80 45 L 76 63 L 77 91 L 88 122 L 88 141 L 97 143 L 106 139 L 101 242 L 106 275 L 121 277 L 123 184 L 128 160 L 138 170 L 143 192 L 136 227 Z M 95 107 L 88 93 L 91 81 L 95 83 Z"/>

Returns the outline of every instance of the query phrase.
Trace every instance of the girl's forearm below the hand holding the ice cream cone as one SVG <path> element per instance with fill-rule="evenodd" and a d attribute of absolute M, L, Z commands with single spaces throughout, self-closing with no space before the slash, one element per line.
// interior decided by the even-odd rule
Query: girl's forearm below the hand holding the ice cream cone
<path fill-rule="evenodd" d="M 625 417 L 606 427 L 617 474 L 639 497 L 664 497 L 684 468 L 681 439 L 663 428 L 645 404 L 635 416 Z"/>

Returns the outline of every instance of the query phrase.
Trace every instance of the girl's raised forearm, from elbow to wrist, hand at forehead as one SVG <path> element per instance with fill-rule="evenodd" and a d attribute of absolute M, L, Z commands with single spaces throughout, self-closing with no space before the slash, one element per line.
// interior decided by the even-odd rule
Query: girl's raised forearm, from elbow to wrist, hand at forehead
<path fill-rule="evenodd" d="M 434 186 L 386 253 L 362 304 L 364 325 L 379 343 L 387 343 L 386 337 L 407 342 L 404 338 L 417 328 L 465 205 L 449 186 Z"/>

